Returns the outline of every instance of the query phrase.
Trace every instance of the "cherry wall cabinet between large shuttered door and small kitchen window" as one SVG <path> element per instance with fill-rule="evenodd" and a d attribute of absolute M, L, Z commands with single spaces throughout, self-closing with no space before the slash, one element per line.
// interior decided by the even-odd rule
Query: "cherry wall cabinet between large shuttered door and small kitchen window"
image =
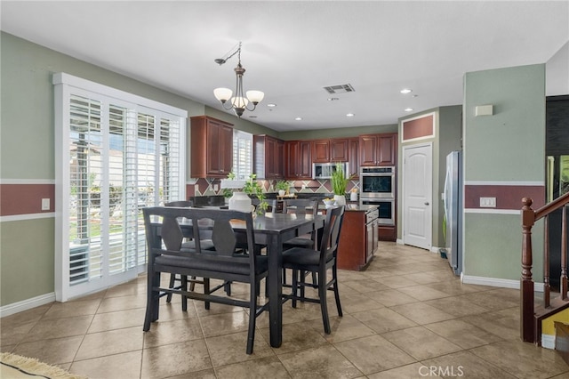
<path fill-rule="evenodd" d="M 226 178 L 233 168 L 233 125 L 207 116 L 190 122 L 191 177 Z"/>

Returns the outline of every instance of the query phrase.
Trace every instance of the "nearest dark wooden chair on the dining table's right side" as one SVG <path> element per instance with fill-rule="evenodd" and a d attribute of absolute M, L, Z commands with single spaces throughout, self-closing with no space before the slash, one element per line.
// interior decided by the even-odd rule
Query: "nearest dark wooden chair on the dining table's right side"
<path fill-rule="evenodd" d="M 293 308 L 296 308 L 298 300 L 320 303 L 324 331 L 327 335 L 331 332 L 326 302 L 328 290 L 333 291 L 338 315 L 342 317 L 340 294 L 338 294 L 336 254 L 338 253 L 338 242 L 340 241 L 343 218 L 344 206 L 327 210 L 322 238 L 319 241 L 319 250 L 293 247 L 283 253 L 284 270 L 293 270 L 292 291 L 290 294 L 283 294 L 284 302 L 292 300 Z M 306 277 L 303 275 L 305 271 L 317 273 L 316 285 L 314 282 L 309 283 L 306 281 Z M 332 273 L 330 280 L 328 280 L 327 276 L 328 271 Z M 317 288 L 317 298 L 309 298 L 304 291 L 300 291 L 301 288 L 307 286 Z"/>

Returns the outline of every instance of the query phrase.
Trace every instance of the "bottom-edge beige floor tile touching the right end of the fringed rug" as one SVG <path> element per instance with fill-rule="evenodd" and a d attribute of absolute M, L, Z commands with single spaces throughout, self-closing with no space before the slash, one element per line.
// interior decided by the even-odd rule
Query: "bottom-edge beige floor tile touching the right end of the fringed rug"
<path fill-rule="evenodd" d="M 86 375 L 89 379 L 140 378 L 140 360 L 142 351 L 130 351 L 123 354 L 108 355 L 95 359 L 76 360 L 69 371 L 73 374 Z"/>

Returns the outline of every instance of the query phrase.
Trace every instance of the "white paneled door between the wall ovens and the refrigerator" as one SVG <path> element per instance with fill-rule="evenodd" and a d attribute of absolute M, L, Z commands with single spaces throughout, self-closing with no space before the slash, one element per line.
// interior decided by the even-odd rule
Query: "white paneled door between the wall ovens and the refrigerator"
<path fill-rule="evenodd" d="M 433 147 L 403 148 L 403 243 L 430 250 L 432 244 Z"/>

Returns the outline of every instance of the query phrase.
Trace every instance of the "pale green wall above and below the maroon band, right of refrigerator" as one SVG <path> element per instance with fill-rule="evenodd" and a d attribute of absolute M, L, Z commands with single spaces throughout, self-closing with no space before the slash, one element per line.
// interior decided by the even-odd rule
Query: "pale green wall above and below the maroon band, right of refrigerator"
<path fill-rule="evenodd" d="M 493 104 L 493 116 L 475 116 Z M 491 69 L 464 77 L 464 181 L 545 180 L 545 65 Z M 521 199 L 520 199 L 521 209 Z M 464 215 L 464 273 L 517 280 L 520 214 Z M 542 230 L 533 229 L 533 274 L 542 278 Z"/>

